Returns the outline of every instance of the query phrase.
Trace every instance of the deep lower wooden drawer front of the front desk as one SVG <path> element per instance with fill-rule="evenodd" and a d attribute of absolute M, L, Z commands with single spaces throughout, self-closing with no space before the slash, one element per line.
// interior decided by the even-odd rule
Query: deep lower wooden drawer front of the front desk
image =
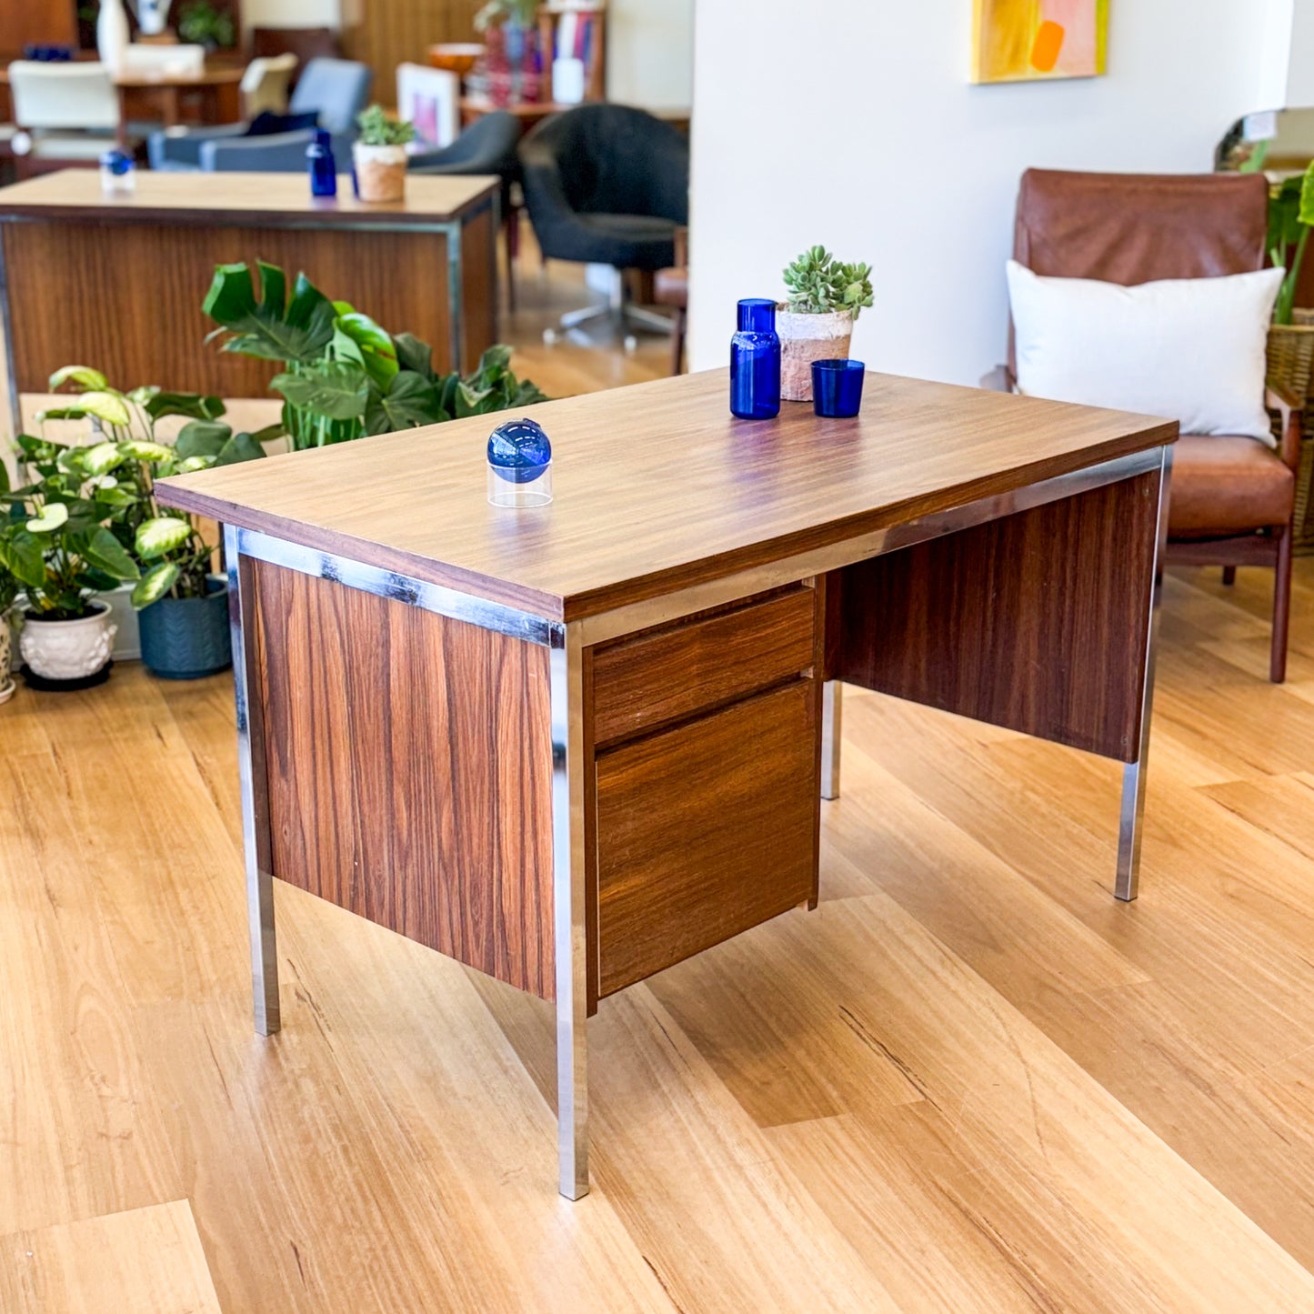
<path fill-rule="evenodd" d="M 815 897 L 817 690 L 598 757 L 599 997 Z"/>

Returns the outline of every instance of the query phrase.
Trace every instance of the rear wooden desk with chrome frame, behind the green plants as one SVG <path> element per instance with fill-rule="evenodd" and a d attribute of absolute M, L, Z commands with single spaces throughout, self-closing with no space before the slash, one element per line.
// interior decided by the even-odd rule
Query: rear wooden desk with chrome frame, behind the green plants
<path fill-rule="evenodd" d="M 151 173 L 106 198 L 97 173 L 66 170 L 0 189 L 0 315 L 11 396 L 46 392 L 79 363 L 116 384 L 259 397 L 272 364 L 223 355 L 201 313 L 217 264 L 305 271 L 451 368 L 497 340 L 495 177 L 411 177 L 406 200 L 336 200 L 300 173 Z M 14 417 L 17 419 L 17 414 Z"/>

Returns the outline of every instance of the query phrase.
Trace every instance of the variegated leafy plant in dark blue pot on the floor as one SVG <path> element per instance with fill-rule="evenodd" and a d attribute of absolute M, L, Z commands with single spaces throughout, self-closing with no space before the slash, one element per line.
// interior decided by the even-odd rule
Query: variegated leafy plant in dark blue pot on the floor
<path fill-rule="evenodd" d="M 138 608 L 142 661 L 163 679 L 196 679 L 231 665 L 227 583 L 210 570 L 213 544 L 187 515 L 163 512 L 155 480 L 264 456 L 264 434 L 234 434 L 219 417 L 217 397 L 138 388 L 121 393 L 99 371 L 70 367 L 51 378 L 83 389 L 45 419 L 92 415 L 105 442 L 79 448 L 101 486 L 114 489 L 118 509 L 112 532 L 141 574 L 131 594 Z M 167 417 L 184 417 L 172 443 L 156 430 Z"/>

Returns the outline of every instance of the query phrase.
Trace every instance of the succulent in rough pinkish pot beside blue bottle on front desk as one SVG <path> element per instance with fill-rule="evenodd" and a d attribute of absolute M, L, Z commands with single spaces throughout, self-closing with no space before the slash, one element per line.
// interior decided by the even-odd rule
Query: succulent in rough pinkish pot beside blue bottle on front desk
<path fill-rule="evenodd" d="M 781 397 L 812 401 L 812 361 L 849 355 L 854 321 L 872 301 L 871 269 L 845 264 L 815 246 L 784 269 L 786 300 L 775 317 L 781 335 Z"/>

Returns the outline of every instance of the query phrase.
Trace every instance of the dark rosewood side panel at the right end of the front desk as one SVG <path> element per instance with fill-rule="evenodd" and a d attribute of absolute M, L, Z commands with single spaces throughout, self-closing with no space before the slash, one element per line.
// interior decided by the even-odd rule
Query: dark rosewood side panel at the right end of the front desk
<path fill-rule="evenodd" d="M 833 678 L 1131 762 L 1159 472 L 828 577 Z"/>

